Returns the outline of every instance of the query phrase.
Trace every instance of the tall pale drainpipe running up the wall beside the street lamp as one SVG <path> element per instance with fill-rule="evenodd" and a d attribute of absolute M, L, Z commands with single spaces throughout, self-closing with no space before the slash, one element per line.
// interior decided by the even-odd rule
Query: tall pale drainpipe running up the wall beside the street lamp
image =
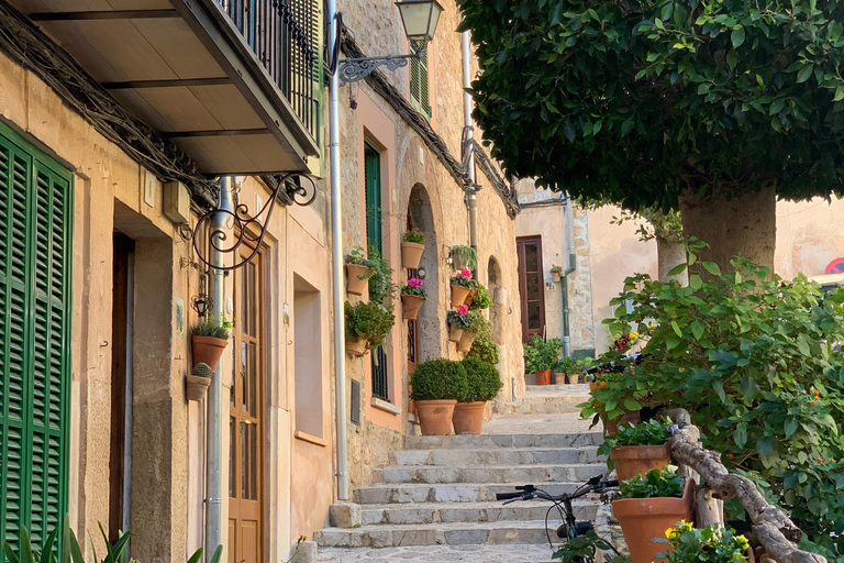
<path fill-rule="evenodd" d="M 335 53 L 340 41 L 340 25 L 336 18 L 336 0 L 329 0 L 327 14 L 331 22 L 329 53 Z M 332 285 L 334 296 L 334 366 L 336 387 L 337 423 L 337 499 L 348 500 L 348 455 L 346 453 L 346 324 L 345 301 L 343 300 L 343 211 L 340 200 L 340 78 L 334 71 L 329 77 L 331 92 L 330 147 L 331 147 L 331 253 Z"/>

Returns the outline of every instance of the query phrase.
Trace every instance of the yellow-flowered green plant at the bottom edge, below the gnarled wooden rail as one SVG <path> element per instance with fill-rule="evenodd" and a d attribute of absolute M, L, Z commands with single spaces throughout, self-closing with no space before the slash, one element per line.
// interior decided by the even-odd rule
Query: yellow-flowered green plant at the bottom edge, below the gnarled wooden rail
<path fill-rule="evenodd" d="M 732 528 L 722 530 L 718 526 L 696 529 L 689 522 L 679 522 L 665 532 L 667 539 L 657 538 L 657 543 L 667 543 L 674 551 L 658 553 L 657 559 L 668 563 L 746 563 L 749 542 Z"/>

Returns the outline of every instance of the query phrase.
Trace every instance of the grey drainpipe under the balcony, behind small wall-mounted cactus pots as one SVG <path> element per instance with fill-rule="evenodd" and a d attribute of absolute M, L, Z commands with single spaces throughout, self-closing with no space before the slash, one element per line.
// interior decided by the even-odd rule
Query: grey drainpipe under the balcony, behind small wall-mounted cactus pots
<path fill-rule="evenodd" d="M 219 209 L 233 211 L 231 179 L 223 176 L 220 179 Z M 214 213 L 211 219 L 210 233 L 224 233 L 226 229 L 226 214 Z M 211 244 L 212 266 L 224 266 L 223 253 Z M 211 292 L 214 298 L 213 314 L 225 314 L 225 272 L 213 269 L 211 272 Z M 223 481 L 221 467 L 223 465 L 223 362 L 220 362 L 211 376 L 211 386 L 208 389 L 208 435 L 206 465 L 206 561 L 209 561 L 216 547 L 223 543 Z"/>

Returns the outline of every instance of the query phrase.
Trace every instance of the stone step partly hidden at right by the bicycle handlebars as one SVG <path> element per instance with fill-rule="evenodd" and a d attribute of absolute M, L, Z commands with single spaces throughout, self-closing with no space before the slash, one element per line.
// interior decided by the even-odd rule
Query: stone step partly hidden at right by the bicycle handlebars
<path fill-rule="evenodd" d="M 603 466 L 603 473 L 607 466 Z M 598 472 L 596 472 L 598 475 Z M 584 479 L 586 481 L 586 479 Z M 495 503 L 497 493 L 512 493 L 517 485 L 534 485 L 548 495 L 573 493 L 584 483 L 391 483 L 358 487 L 354 503 L 359 505 L 387 505 L 407 503 Z M 515 504 L 515 503 L 514 503 Z"/>

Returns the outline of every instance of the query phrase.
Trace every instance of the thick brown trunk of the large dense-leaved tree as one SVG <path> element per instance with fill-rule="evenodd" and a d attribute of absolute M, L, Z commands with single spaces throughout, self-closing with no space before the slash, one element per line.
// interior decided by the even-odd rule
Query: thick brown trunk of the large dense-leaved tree
<path fill-rule="evenodd" d="M 698 199 L 693 190 L 680 196 L 684 234 L 709 244 L 698 258 L 714 262 L 722 273 L 732 272 L 737 255 L 774 271 L 777 233 L 777 197 L 774 185 L 732 199 Z M 692 268 L 701 272 L 699 264 Z"/>

